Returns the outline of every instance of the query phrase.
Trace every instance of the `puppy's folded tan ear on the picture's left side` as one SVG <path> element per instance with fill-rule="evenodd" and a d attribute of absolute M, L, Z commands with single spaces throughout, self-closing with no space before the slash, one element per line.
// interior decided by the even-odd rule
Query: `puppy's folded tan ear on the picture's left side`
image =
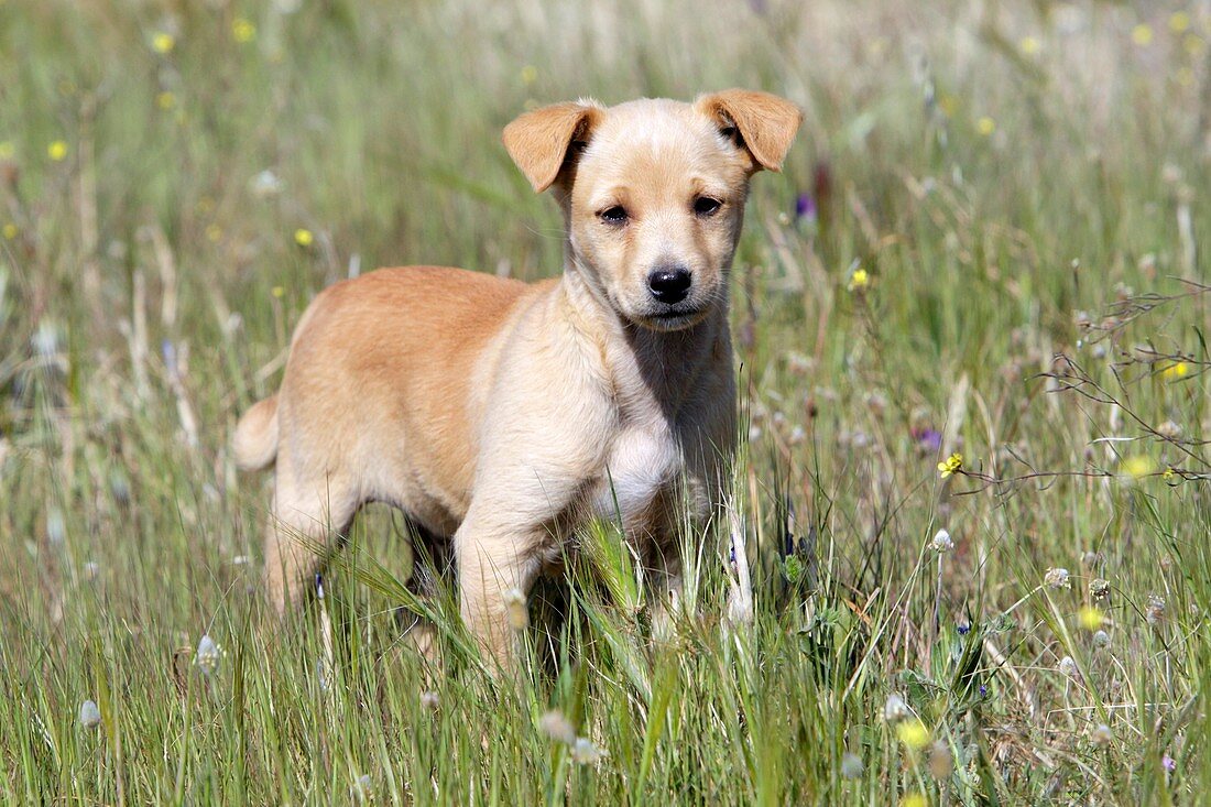
<path fill-rule="evenodd" d="M 543 193 L 584 148 L 601 114 L 591 102 L 543 107 L 505 126 L 501 139 L 534 190 Z"/>

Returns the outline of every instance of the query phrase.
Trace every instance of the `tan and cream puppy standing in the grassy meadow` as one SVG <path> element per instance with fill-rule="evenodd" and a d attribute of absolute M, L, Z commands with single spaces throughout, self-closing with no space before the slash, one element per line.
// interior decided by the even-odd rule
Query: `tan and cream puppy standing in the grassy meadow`
<path fill-rule="evenodd" d="M 281 389 L 235 433 L 276 460 L 265 588 L 281 611 L 360 505 L 453 548 L 463 619 L 504 664 L 507 607 L 585 519 L 620 519 L 679 585 L 677 531 L 718 503 L 735 442 L 728 275 L 750 177 L 777 171 L 802 115 L 764 92 L 592 101 L 527 113 L 505 148 L 567 225 L 563 275 L 381 269 L 323 291 Z M 685 513 L 685 508 L 689 513 Z"/>

